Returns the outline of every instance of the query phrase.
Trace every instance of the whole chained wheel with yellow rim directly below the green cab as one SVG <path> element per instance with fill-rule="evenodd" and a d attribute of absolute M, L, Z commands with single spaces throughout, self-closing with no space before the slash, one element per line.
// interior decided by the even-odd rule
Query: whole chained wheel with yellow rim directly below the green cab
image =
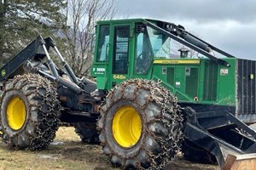
<path fill-rule="evenodd" d="M 183 120 L 177 99 L 159 82 L 122 82 L 100 111 L 99 139 L 114 166 L 161 168 L 177 155 Z"/>

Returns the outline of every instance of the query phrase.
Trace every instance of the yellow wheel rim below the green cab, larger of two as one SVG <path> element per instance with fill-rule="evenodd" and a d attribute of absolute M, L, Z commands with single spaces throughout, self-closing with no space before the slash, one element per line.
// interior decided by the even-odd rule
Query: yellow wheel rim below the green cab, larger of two
<path fill-rule="evenodd" d="M 125 148 L 137 144 L 142 133 L 142 120 L 131 106 L 123 106 L 113 116 L 113 138 Z"/>

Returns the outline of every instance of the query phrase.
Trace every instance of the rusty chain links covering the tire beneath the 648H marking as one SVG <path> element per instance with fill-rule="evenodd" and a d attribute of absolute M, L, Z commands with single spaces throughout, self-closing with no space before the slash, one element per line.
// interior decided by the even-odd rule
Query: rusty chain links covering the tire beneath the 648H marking
<path fill-rule="evenodd" d="M 183 140 L 183 134 L 182 134 L 182 122 L 183 118 L 181 114 L 179 114 L 179 106 L 177 105 L 177 98 L 172 95 L 172 93 L 167 90 L 166 88 L 162 87 L 160 85 L 160 81 L 154 82 L 152 80 L 143 80 L 143 79 L 134 79 L 134 80 L 127 80 L 125 82 L 122 82 L 119 84 L 119 86 L 116 86 L 112 90 L 109 91 L 109 94 L 106 98 L 106 100 L 102 103 L 100 107 L 101 111 L 101 117 L 100 122 L 102 125 L 106 125 L 106 120 L 108 116 L 108 111 L 111 109 L 111 107 L 119 102 L 119 100 L 125 100 L 126 96 L 124 96 L 125 88 L 129 85 L 134 84 L 136 88 L 134 88 L 133 91 L 133 99 L 130 99 L 133 102 L 137 102 L 137 92 L 139 89 L 143 89 L 144 91 L 148 91 L 149 95 L 146 100 L 146 102 L 143 105 L 140 105 L 137 103 L 137 105 L 140 106 L 140 109 L 142 110 L 141 116 L 143 122 L 147 120 L 147 113 L 145 112 L 148 108 L 148 105 L 150 103 L 155 103 L 158 105 L 160 109 L 160 115 L 155 116 L 153 120 L 149 122 L 145 122 L 145 126 L 143 127 L 143 140 L 142 145 L 140 146 L 140 150 L 137 150 L 135 154 L 133 154 L 132 157 L 124 157 L 121 153 L 117 153 L 110 144 L 108 144 L 108 141 L 106 142 L 106 132 L 104 127 L 98 127 L 98 129 L 101 130 L 102 133 L 102 146 L 108 147 L 110 150 L 110 154 L 108 156 L 119 156 L 122 158 L 122 161 L 126 161 L 128 159 L 133 159 L 137 161 L 137 169 L 145 169 L 140 161 L 137 160 L 137 155 L 141 150 L 145 150 L 147 152 L 147 155 L 150 158 L 150 167 L 148 169 L 161 169 L 165 167 L 166 163 L 170 160 L 173 160 L 174 157 L 177 155 L 178 150 L 180 150 L 180 145 Z M 120 90 L 121 89 L 121 90 Z M 121 99 L 114 99 L 114 96 L 119 96 L 115 93 L 121 93 Z M 127 100 L 127 99 L 126 99 Z M 110 104 L 110 105 L 109 105 Z M 155 134 L 154 132 L 151 132 L 148 129 L 148 126 L 152 124 L 153 122 L 161 123 L 168 129 L 168 134 L 166 134 L 166 138 L 163 136 L 159 136 Z M 174 129 L 177 128 L 178 129 Z M 157 141 L 158 144 L 160 144 L 162 152 L 158 154 L 154 154 L 152 150 L 148 150 L 146 147 L 146 138 L 147 136 L 150 136 L 154 138 L 155 141 Z M 158 160 L 161 160 L 160 162 Z M 122 168 L 125 168 L 125 163 L 122 163 Z"/>

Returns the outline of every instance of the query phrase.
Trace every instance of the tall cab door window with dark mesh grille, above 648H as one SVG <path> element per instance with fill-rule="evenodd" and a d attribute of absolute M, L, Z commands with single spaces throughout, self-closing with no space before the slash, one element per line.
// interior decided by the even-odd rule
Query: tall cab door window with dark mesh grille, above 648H
<path fill-rule="evenodd" d="M 130 26 L 114 27 L 113 73 L 127 74 Z"/>

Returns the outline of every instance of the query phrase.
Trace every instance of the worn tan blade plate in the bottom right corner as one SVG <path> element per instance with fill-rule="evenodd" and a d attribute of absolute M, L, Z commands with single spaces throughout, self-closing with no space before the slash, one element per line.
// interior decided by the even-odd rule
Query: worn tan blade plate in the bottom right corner
<path fill-rule="evenodd" d="M 256 154 L 231 155 L 229 154 L 224 163 L 223 170 L 255 170 Z"/>

